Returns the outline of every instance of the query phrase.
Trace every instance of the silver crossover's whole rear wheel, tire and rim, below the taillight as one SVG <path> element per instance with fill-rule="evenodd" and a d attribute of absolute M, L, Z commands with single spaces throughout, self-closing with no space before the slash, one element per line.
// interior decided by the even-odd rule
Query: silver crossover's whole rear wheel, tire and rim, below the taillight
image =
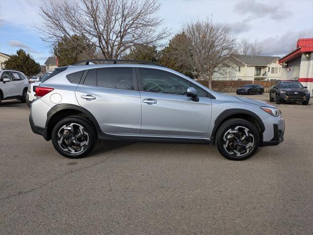
<path fill-rule="evenodd" d="M 72 116 L 54 126 L 51 139 L 54 148 L 64 157 L 83 158 L 93 149 L 96 135 L 87 119 Z"/>

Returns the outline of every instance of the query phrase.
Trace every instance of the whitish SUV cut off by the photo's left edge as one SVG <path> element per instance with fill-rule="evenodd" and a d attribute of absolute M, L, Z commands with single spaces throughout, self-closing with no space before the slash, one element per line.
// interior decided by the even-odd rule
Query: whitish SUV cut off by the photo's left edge
<path fill-rule="evenodd" d="M 24 73 L 9 69 L 0 70 L 0 105 L 1 101 L 6 99 L 26 102 L 28 84 Z"/>

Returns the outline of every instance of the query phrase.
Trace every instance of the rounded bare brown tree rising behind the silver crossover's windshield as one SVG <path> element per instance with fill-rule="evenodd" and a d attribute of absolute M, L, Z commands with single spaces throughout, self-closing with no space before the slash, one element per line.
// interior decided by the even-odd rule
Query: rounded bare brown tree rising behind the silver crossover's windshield
<path fill-rule="evenodd" d="M 182 31 L 185 35 L 174 42 L 174 52 L 179 64 L 190 66 L 195 77 L 207 80 L 212 88 L 212 75 L 224 73 L 231 67 L 228 57 L 236 53 L 236 37 L 228 25 L 216 24 L 211 18 L 190 20 Z"/>

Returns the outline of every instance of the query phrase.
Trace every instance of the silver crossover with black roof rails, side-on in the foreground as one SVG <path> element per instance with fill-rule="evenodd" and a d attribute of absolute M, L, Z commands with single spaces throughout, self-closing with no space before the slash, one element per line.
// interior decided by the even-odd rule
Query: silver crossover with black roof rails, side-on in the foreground
<path fill-rule="evenodd" d="M 154 63 L 103 61 L 56 68 L 36 88 L 31 128 L 67 158 L 86 156 L 97 140 L 132 140 L 211 143 L 245 160 L 284 140 L 285 120 L 267 102 L 214 92 Z"/>

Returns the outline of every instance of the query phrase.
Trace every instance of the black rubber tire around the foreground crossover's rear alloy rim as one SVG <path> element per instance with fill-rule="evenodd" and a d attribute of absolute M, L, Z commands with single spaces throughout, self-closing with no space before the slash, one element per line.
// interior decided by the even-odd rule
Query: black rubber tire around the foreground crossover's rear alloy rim
<path fill-rule="evenodd" d="M 60 130 L 62 129 L 62 127 L 64 125 L 66 125 L 67 127 L 72 125 L 71 127 L 73 127 L 73 132 L 75 132 L 74 127 L 76 128 L 76 131 L 77 131 L 77 127 L 81 126 L 81 127 L 83 127 L 83 134 L 84 135 L 82 135 L 81 138 L 77 138 L 77 139 L 72 139 L 72 137 L 73 137 L 73 135 L 72 135 L 69 138 L 64 138 L 64 139 L 61 140 L 61 138 L 63 138 L 63 137 L 60 136 L 61 137 L 60 138 L 58 136 L 58 134 L 59 134 Z M 71 133 L 71 130 L 63 130 L 64 136 L 70 136 L 71 134 L 65 134 L 66 131 L 68 133 Z M 61 130 L 61 132 L 62 132 L 62 130 Z M 87 135 L 85 133 L 87 133 Z M 76 134 L 76 137 L 78 135 L 81 135 L 81 134 L 82 133 L 80 131 L 79 133 Z M 75 134 L 74 134 L 74 138 L 75 138 Z M 67 158 L 72 158 L 72 159 L 83 158 L 87 154 L 89 154 L 89 152 L 93 149 L 93 146 L 94 146 L 94 144 L 96 142 L 96 131 L 93 128 L 91 122 L 89 122 L 88 119 L 83 118 L 83 117 L 79 117 L 79 116 L 71 116 L 71 117 L 67 117 L 67 118 L 61 119 L 54 126 L 54 128 L 52 130 L 52 133 L 51 133 L 51 140 L 52 140 L 52 144 L 53 144 L 55 150 L 57 150 L 58 153 L 60 153 L 62 156 L 67 157 Z M 59 144 L 58 141 L 61 141 L 61 143 Z M 72 152 L 70 153 L 70 152 L 68 152 L 68 151 L 71 151 L 69 149 L 69 147 L 71 147 L 72 150 L 76 150 L 75 148 L 79 147 L 79 146 L 75 145 L 75 141 L 77 141 L 78 143 L 84 143 L 84 142 L 87 141 L 87 144 L 83 145 L 83 150 L 82 150 L 82 147 L 80 147 L 81 148 L 80 150 L 78 149 L 78 151 L 80 151 L 80 152 L 77 152 L 77 153 L 72 153 Z M 74 142 L 74 146 L 73 145 L 69 146 L 67 144 L 69 142 L 71 142 L 71 143 Z M 62 145 L 65 148 L 67 148 L 67 150 L 64 150 L 60 145 Z"/>

